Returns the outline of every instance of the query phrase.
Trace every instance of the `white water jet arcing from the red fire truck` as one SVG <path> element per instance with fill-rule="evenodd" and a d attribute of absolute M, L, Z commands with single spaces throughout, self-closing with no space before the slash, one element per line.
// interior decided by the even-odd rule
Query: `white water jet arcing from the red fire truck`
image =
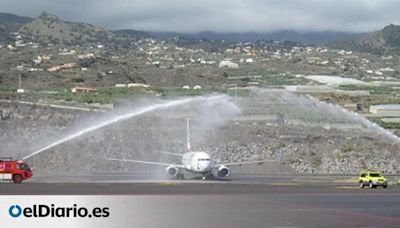
<path fill-rule="evenodd" d="M 222 99 L 222 98 L 227 98 L 227 96 L 226 95 L 214 95 L 214 96 L 209 96 L 209 97 L 185 98 L 185 99 L 173 100 L 173 101 L 169 101 L 169 102 L 161 103 L 161 104 L 154 104 L 154 105 L 151 105 L 151 106 L 148 106 L 148 107 L 143 107 L 143 108 L 140 108 L 138 110 L 135 110 L 134 112 L 130 112 L 130 113 L 119 115 L 119 116 L 114 116 L 110 120 L 107 120 L 107 121 L 104 121 L 104 122 L 99 123 L 97 125 L 88 127 L 88 128 L 83 129 L 83 130 L 81 130 L 79 132 L 72 133 L 72 134 L 70 134 L 70 135 L 68 135 L 68 136 L 66 136 L 66 137 L 64 137 L 64 138 L 62 138 L 62 139 L 60 139 L 60 140 L 48 145 L 48 146 L 45 146 L 45 147 L 43 147 L 43 148 L 41 148 L 41 149 L 39 149 L 39 150 L 29 154 L 29 155 L 26 155 L 25 157 L 22 158 L 22 160 L 26 160 L 26 159 L 28 159 L 28 158 L 30 158 L 32 156 L 35 156 L 35 155 L 37 155 L 39 153 L 42 153 L 43 151 L 46 151 L 46 150 L 48 150 L 48 149 L 50 149 L 52 147 L 58 146 L 58 145 L 60 145 L 60 144 L 62 144 L 64 142 L 67 142 L 69 140 L 72 140 L 72 139 L 75 139 L 77 137 L 80 137 L 80 136 L 82 136 L 84 134 L 87 134 L 89 132 L 98 130 L 100 128 L 103 128 L 105 126 L 108 126 L 110 124 L 113 124 L 113 123 L 116 123 L 116 122 L 119 122 L 119 121 L 128 120 L 130 118 L 133 118 L 135 116 L 144 114 L 146 112 L 150 112 L 150 111 L 153 111 L 153 110 L 156 110 L 156 109 L 170 108 L 170 107 L 173 107 L 173 106 L 179 106 L 179 105 L 187 104 L 187 103 L 194 102 L 194 101 L 200 101 L 200 100 L 213 101 L 213 100 L 218 100 L 218 99 Z"/>

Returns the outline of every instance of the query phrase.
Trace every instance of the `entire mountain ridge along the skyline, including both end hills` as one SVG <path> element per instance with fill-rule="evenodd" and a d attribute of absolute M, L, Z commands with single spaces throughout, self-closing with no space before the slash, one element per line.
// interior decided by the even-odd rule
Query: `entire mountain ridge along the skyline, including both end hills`
<path fill-rule="evenodd" d="M 257 40 L 291 41 L 372 54 L 400 54 L 400 26 L 393 24 L 372 33 L 332 31 L 296 32 L 291 30 L 267 33 L 216 33 L 210 31 L 179 33 L 149 32 L 134 29 L 112 31 L 89 23 L 64 21 L 47 12 L 43 12 L 36 18 L 0 13 L 0 42 L 9 42 L 12 40 L 10 34 L 14 32 L 19 32 L 32 41 L 71 45 L 78 45 L 82 42 L 109 42 L 121 37 L 153 37 L 156 39 L 186 37 L 189 39 L 225 41 L 228 43 L 241 41 L 255 42 Z"/>

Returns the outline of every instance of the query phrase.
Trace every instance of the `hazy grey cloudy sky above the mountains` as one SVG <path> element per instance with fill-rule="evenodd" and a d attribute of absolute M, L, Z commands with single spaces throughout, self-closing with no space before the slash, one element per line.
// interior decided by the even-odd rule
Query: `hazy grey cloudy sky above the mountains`
<path fill-rule="evenodd" d="M 400 24 L 400 0 L 0 0 L 0 11 L 109 29 L 178 32 L 354 31 Z"/>

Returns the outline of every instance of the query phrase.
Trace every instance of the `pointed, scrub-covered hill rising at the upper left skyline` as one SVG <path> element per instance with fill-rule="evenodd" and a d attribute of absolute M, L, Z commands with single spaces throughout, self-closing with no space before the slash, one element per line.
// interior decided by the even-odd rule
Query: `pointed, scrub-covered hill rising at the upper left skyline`
<path fill-rule="evenodd" d="M 87 23 L 67 22 L 43 13 L 25 24 L 19 32 L 40 43 L 81 44 L 82 42 L 107 42 L 114 34 Z"/>

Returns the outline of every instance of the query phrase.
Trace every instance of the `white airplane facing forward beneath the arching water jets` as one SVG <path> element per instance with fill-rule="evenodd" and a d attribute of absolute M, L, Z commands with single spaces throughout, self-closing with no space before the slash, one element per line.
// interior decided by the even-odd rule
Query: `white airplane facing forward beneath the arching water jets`
<path fill-rule="evenodd" d="M 210 179 L 213 178 L 213 173 L 216 171 L 219 177 L 228 177 L 230 175 L 230 166 L 240 166 L 240 165 L 249 165 L 249 164 L 262 164 L 264 162 L 270 162 L 275 160 L 261 160 L 261 161 L 241 161 L 241 162 L 227 162 L 227 163 L 215 163 L 210 154 L 204 151 L 192 151 L 190 146 L 190 125 L 189 118 L 186 119 L 186 131 L 187 131 L 187 151 L 184 154 L 171 153 L 171 152 L 162 152 L 168 155 L 179 156 L 182 158 L 181 164 L 173 164 L 173 163 L 163 163 L 163 162 L 152 162 L 152 161 L 141 161 L 141 160 L 132 160 L 132 159 L 117 159 L 117 158 L 108 158 L 110 161 L 118 161 L 118 162 L 131 162 L 131 163 L 140 163 L 140 164 L 148 164 L 148 165 L 158 165 L 158 166 L 166 166 L 166 173 L 171 178 L 184 179 L 183 171 L 187 171 L 193 174 L 201 174 L 202 179 Z"/>

